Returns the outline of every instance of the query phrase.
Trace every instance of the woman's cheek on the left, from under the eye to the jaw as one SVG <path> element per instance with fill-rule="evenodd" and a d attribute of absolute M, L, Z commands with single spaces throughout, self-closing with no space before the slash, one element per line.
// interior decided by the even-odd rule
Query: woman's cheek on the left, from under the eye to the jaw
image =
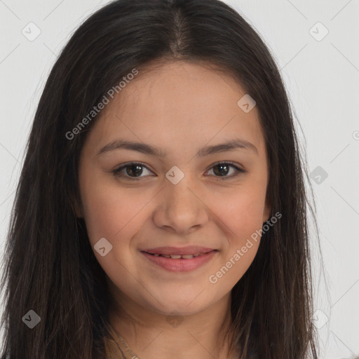
<path fill-rule="evenodd" d="M 95 257 L 111 280 L 117 280 L 121 287 L 135 287 L 132 277 L 127 275 L 128 270 L 136 273 L 131 257 L 131 241 L 141 221 L 144 221 L 144 205 L 151 198 L 134 196 L 114 186 L 97 186 L 95 182 L 88 185 L 88 188 L 83 187 L 83 215 Z M 106 238 L 112 245 L 104 257 L 94 248 L 100 238 Z"/>

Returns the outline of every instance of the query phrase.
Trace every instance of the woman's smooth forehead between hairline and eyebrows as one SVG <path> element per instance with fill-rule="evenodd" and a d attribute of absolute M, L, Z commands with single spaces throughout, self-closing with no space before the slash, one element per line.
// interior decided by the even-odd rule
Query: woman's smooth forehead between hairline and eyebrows
<path fill-rule="evenodd" d="M 256 107 L 248 113 L 238 107 L 243 95 L 245 89 L 230 74 L 206 64 L 169 62 L 139 69 L 102 110 L 88 140 L 100 146 L 125 137 L 183 153 L 191 144 L 197 148 L 241 137 L 264 151 Z"/>

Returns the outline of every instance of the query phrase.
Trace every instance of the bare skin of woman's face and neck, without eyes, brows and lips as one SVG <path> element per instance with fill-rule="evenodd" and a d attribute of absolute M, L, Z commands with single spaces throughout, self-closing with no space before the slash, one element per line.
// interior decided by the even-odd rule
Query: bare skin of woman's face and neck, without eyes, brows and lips
<path fill-rule="evenodd" d="M 260 239 L 235 264 L 233 255 L 270 216 L 264 136 L 257 108 L 245 113 L 238 107 L 243 95 L 231 76 L 200 63 L 168 62 L 140 71 L 88 133 L 80 158 L 78 215 L 86 221 L 92 247 L 100 238 L 112 245 L 104 257 L 94 250 L 114 299 L 109 321 L 141 359 L 229 358 L 224 329 L 231 323 L 231 289 L 255 258 Z M 166 155 L 129 149 L 98 154 L 120 137 Z M 201 147 L 234 138 L 257 151 L 196 156 Z M 144 163 L 137 176 L 133 167 L 121 170 L 122 177 L 111 172 L 128 162 Z M 218 162 L 227 168 L 221 171 Z M 231 165 L 246 172 L 235 176 Z M 177 184 L 165 177 L 173 166 L 184 174 Z M 140 252 L 187 245 L 217 252 L 194 271 L 176 273 Z M 231 269 L 211 283 L 209 277 L 231 258 Z M 181 323 L 174 325 L 170 315 Z"/>

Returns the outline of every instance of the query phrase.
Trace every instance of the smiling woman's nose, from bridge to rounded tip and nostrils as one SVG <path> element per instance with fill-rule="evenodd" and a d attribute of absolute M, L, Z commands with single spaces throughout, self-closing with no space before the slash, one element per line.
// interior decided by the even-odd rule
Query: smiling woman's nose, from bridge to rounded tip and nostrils
<path fill-rule="evenodd" d="M 156 226 L 185 235 L 208 222 L 205 198 L 186 176 L 177 184 L 168 181 L 164 186 L 154 213 Z"/>

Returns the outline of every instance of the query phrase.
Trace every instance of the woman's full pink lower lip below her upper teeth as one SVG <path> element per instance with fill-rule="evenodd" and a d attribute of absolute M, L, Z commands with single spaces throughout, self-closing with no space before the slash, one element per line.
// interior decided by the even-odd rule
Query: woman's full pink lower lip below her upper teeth
<path fill-rule="evenodd" d="M 188 272 L 194 271 L 203 264 L 207 263 L 212 259 L 212 257 L 217 253 L 217 250 L 212 250 L 212 252 L 205 253 L 205 255 L 200 255 L 198 257 L 193 257 L 191 259 L 172 259 L 166 257 L 155 257 L 150 255 L 147 252 L 142 252 L 151 262 L 158 264 L 163 269 L 167 269 L 171 272 Z"/>

